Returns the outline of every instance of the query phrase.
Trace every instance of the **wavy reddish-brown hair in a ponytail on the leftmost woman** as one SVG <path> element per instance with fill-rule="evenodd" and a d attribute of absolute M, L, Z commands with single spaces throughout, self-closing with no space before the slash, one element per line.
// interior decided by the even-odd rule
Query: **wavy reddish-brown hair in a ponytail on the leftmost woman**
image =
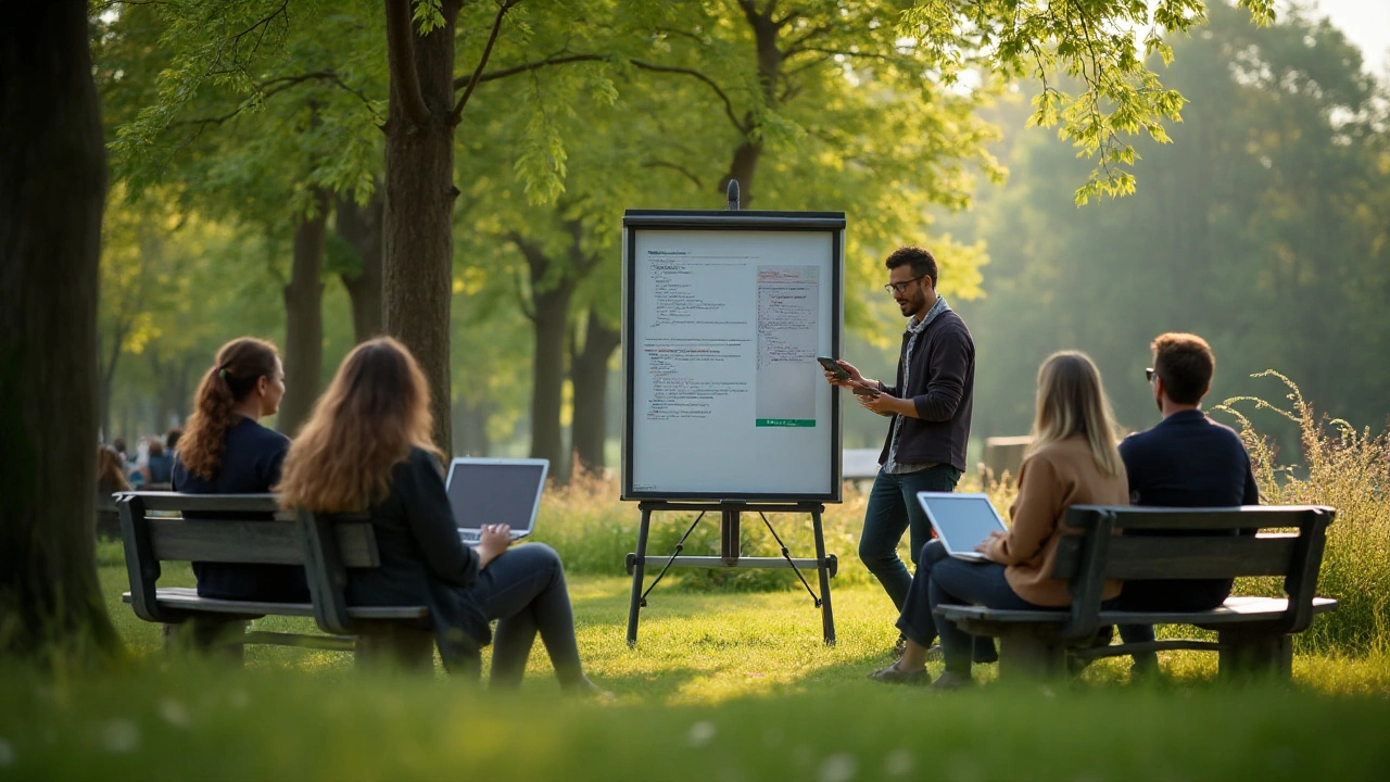
<path fill-rule="evenodd" d="M 275 345 L 252 337 L 232 340 L 217 351 L 217 363 L 193 397 L 193 415 L 178 441 L 178 459 L 193 474 L 213 480 L 227 452 L 227 431 L 236 423 L 232 409 L 261 377 L 275 377 Z"/>

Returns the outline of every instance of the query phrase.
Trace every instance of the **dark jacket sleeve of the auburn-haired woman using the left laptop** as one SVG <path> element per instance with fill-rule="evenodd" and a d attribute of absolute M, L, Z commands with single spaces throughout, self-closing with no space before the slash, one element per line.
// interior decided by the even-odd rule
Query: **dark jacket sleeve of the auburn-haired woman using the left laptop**
<path fill-rule="evenodd" d="M 478 579 L 478 552 L 459 540 L 453 508 L 434 456 L 416 451 L 409 462 L 396 466 L 392 477 L 406 506 L 406 523 L 430 570 L 445 583 L 473 586 Z"/>

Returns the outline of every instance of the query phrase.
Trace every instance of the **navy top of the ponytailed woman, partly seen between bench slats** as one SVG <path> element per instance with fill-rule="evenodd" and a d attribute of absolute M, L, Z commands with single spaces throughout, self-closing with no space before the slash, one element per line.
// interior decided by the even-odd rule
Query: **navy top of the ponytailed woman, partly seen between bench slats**
<path fill-rule="evenodd" d="M 211 479 L 193 474 L 183 461 L 174 459 L 174 491 L 189 494 L 267 494 L 279 483 L 279 470 L 289 451 L 289 438 L 242 417 L 227 430 L 222 465 Z M 200 513 L 185 513 L 196 519 Z M 263 519 L 264 513 L 246 513 Z M 193 562 L 197 594 L 221 600 L 267 603 L 309 603 L 309 580 L 300 565 L 231 565 Z"/>

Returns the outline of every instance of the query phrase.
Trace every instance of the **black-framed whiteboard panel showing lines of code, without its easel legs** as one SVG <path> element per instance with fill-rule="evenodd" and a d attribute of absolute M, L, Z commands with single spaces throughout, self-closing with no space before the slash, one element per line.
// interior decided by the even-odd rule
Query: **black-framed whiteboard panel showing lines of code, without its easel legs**
<path fill-rule="evenodd" d="M 624 500 L 840 501 L 842 213 L 624 216 Z"/>

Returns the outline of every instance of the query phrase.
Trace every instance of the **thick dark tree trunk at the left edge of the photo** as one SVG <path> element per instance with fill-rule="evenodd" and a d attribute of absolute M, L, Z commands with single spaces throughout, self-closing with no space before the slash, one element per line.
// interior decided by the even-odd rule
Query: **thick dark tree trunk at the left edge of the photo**
<path fill-rule="evenodd" d="M 82 0 L 0 1 L 0 657 L 106 655 L 96 576 L 106 150 Z"/>

